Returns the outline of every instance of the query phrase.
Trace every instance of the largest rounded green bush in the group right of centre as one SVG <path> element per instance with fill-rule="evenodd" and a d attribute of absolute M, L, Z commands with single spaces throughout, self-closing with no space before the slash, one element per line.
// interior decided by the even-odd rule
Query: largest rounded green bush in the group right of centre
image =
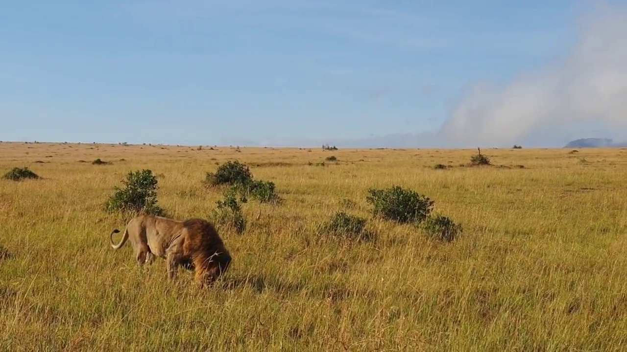
<path fill-rule="evenodd" d="M 433 208 L 433 200 L 413 190 L 393 186 L 389 189 L 369 189 L 366 201 L 374 206 L 372 212 L 399 223 L 422 222 Z"/>

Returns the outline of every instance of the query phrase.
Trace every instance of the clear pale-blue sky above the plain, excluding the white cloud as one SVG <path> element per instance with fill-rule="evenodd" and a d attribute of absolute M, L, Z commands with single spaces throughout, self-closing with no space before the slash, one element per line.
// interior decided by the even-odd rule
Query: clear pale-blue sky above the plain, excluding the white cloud
<path fill-rule="evenodd" d="M 561 60 L 588 11 L 566 0 L 12 1 L 0 11 L 0 140 L 413 146 L 477 83 L 506 90 Z"/>

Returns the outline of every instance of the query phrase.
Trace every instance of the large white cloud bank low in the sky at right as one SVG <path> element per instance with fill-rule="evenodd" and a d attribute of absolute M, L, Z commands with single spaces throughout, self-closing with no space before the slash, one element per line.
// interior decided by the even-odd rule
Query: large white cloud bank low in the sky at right
<path fill-rule="evenodd" d="M 570 133 L 589 123 L 613 132 L 610 138 L 627 137 L 625 6 L 594 7 L 575 48 L 561 61 L 521 73 L 502 88 L 472 86 L 438 137 L 460 147 L 505 147 L 547 128 Z"/>

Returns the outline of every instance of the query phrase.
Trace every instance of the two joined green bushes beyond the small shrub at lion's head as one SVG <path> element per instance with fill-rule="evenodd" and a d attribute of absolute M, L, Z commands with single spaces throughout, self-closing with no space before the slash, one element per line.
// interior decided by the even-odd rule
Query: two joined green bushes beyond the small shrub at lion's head
<path fill-rule="evenodd" d="M 274 182 L 254 180 L 248 165 L 229 160 L 219 165 L 216 172 L 207 172 L 203 183 L 209 187 L 229 185 L 241 195 L 253 197 L 262 203 L 280 202 Z"/>

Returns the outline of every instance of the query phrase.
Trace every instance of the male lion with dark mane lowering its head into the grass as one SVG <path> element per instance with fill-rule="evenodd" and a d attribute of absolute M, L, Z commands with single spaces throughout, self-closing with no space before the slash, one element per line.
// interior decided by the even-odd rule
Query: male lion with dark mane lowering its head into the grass
<path fill-rule="evenodd" d="M 139 215 L 127 224 L 122 241 L 114 244 L 113 234 L 119 232 L 115 229 L 109 236 L 113 249 L 120 249 L 129 240 L 140 266 L 145 262 L 151 264 L 154 256 L 166 258 L 169 279 L 176 277 L 179 266 L 192 264 L 196 281 L 201 286 L 203 283 L 211 285 L 231 264 L 231 255 L 215 227 L 207 220 L 178 221 Z"/>

